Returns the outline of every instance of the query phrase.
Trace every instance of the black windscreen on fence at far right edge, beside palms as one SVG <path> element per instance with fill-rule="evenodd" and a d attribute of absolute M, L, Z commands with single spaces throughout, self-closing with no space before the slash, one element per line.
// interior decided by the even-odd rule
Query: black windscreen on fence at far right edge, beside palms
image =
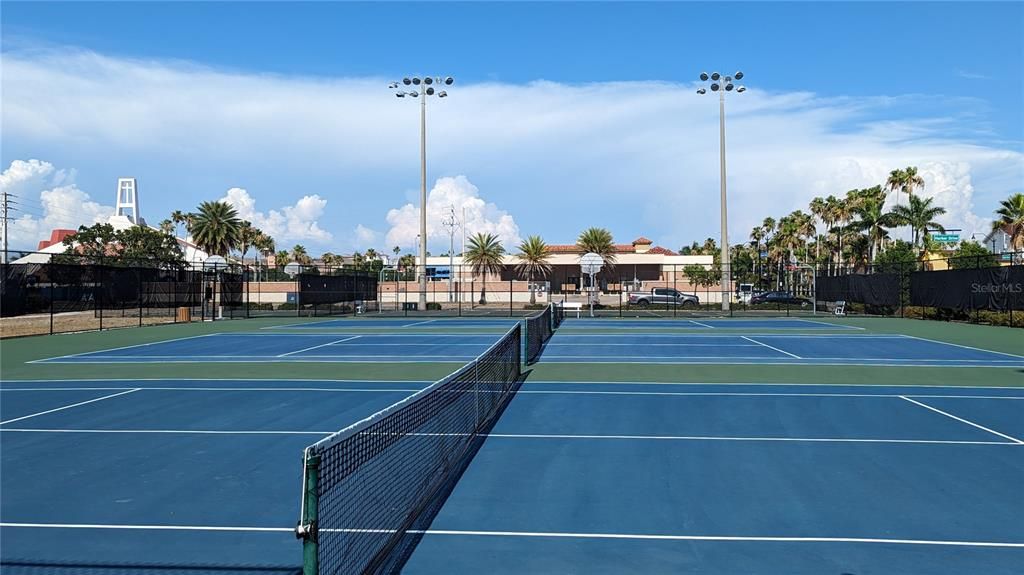
<path fill-rule="evenodd" d="M 910 304 L 947 309 L 1024 309 L 1024 266 L 916 271 Z"/>

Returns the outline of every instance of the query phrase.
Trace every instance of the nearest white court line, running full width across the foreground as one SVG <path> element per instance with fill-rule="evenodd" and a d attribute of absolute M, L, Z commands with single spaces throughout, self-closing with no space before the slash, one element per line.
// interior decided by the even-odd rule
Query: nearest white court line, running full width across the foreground
<path fill-rule="evenodd" d="M 215 525 L 111 525 L 90 523 L 14 523 L 3 522 L 0 527 L 23 529 L 113 529 L 126 531 L 225 531 L 249 533 L 294 533 L 294 527 L 248 527 Z M 395 533 L 393 529 L 322 528 L 330 533 Z M 773 535 L 665 535 L 649 533 L 572 533 L 563 531 L 467 531 L 456 529 L 412 529 L 407 533 L 417 535 L 447 535 L 477 537 L 546 537 L 563 539 L 627 539 L 655 541 L 723 541 L 767 543 L 866 543 L 899 545 L 943 545 L 957 547 L 1022 548 L 1024 542 L 1014 541 L 961 541 L 955 539 L 895 539 L 878 537 L 798 537 Z"/>

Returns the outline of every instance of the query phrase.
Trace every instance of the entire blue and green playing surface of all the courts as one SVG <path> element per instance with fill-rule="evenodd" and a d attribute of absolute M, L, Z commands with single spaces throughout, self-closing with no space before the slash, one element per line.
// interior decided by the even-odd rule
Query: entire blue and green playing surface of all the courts
<path fill-rule="evenodd" d="M 254 320 L 134 345 L 112 345 L 118 334 L 15 342 L 5 363 L 19 357 L 19 377 L 0 385 L 5 572 L 15 559 L 36 564 L 24 572 L 296 572 L 302 461 L 317 442 L 322 573 L 358 572 L 346 562 L 395 536 L 403 573 L 1019 572 L 1015 331 L 589 321 L 566 320 L 521 383 L 514 319 L 484 334 Z M 694 379 L 707 373 L 729 383 Z M 795 383 L 807 380 L 818 384 Z M 473 423 L 481 411 L 495 421 Z M 332 458 L 349 440 L 351 454 Z M 389 514 L 414 504 L 410 482 L 451 450 L 468 453 L 451 461 L 457 481 L 439 492 L 451 493 L 430 499 L 432 521 L 398 533 Z M 342 474 L 356 453 L 373 456 Z"/>

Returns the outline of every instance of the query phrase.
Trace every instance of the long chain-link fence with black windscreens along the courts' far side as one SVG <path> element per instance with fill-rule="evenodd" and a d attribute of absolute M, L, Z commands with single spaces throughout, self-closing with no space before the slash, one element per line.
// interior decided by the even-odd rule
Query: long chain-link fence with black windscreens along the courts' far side
<path fill-rule="evenodd" d="M 428 267 L 421 283 L 414 268 L 130 263 L 3 264 L 0 336 L 273 316 L 527 317 L 551 304 L 568 317 L 696 318 L 813 316 L 844 302 L 848 316 L 1024 326 L 1024 253 L 858 266 L 755 261 L 732 266 L 724 292 L 716 265 L 620 264 L 593 282 L 572 266 L 543 277 L 514 266 Z"/>

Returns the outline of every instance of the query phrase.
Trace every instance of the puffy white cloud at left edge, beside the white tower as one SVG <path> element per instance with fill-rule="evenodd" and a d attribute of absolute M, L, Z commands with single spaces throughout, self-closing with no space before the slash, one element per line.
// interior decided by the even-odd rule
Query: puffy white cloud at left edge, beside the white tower
<path fill-rule="evenodd" d="M 78 188 L 74 173 L 40 160 L 15 160 L 0 174 L 0 191 L 11 195 L 7 240 L 14 250 L 35 250 L 53 229 L 78 229 L 104 222 L 114 208 Z"/>

